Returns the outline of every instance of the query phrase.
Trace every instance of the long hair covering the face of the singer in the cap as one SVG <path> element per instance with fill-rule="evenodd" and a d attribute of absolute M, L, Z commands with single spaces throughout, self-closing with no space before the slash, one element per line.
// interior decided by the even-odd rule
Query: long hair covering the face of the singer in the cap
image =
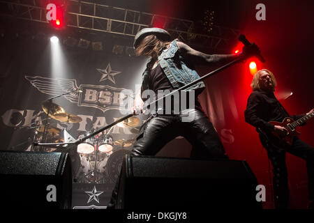
<path fill-rule="evenodd" d="M 156 35 L 149 35 L 142 39 L 140 45 L 136 47 L 135 54 L 143 56 L 158 55 L 160 49 L 163 49 L 170 41 L 161 40 Z"/>

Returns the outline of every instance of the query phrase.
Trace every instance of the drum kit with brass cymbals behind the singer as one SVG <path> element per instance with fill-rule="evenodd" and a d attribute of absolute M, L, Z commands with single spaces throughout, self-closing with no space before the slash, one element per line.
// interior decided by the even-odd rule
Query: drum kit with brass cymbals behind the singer
<path fill-rule="evenodd" d="M 80 116 L 66 113 L 65 109 L 51 102 L 51 100 L 43 102 L 41 107 L 45 114 L 47 114 L 47 120 L 49 118 L 53 118 L 54 120 L 60 121 L 61 123 L 80 123 L 80 121 L 82 121 Z M 131 116 L 130 118 L 121 121 L 121 123 L 118 123 L 117 125 L 121 128 L 129 128 L 132 130 L 131 132 L 139 132 L 139 130 L 136 128 L 139 124 L 139 118 Z M 76 182 L 104 183 L 107 160 L 114 152 L 114 148 L 127 149 L 135 143 L 135 139 L 118 139 L 114 141 L 112 135 L 110 135 L 112 128 L 110 128 L 108 132 L 104 130 L 103 132 L 95 134 L 93 137 L 85 139 L 80 144 L 77 144 L 76 155 L 78 155 L 80 158 L 78 164 L 75 167 L 74 180 Z M 77 136 L 77 139 L 83 139 L 93 132 L 94 131 L 92 130 L 89 132 L 83 132 Z M 70 143 L 73 141 L 73 137 L 71 137 L 71 140 L 69 140 L 69 137 L 66 137 L 66 135 L 70 135 L 68 132 L 66 132 L 66 129 L 63 130 L 63 133 L 64 137 L 62 136 L 61 129 L 50 126 L 47 121 L 45 125 L 38 125 L 36 127 L 34 141 L 50 141 L 56 144 Z M 46 147 L 41 149 L 40 146 L 34 147 L 37 147 L 37 151 L 60 151 L 59 149 L 53 148 L 53 146 L 52 148 Z M 33 151 L 35 150 L 33 149 Z"/>

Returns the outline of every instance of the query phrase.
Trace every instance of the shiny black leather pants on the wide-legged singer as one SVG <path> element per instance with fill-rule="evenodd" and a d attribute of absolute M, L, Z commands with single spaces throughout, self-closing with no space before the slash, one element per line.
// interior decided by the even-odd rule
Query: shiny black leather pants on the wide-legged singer
<path fill-rule="evenodd" d="M 184 117 L 191 116 L 190 121 Z M 156 155 L 167 142 L 182 136 L 193 145 L 192 158 L 227 158 L 223 144 L 201 109 L 186 109 L 176 115 L 156 115 L 143 127 L 133 146 L 133 155 Z M 179 148 L 178 148 L 179 149 Z"/>

